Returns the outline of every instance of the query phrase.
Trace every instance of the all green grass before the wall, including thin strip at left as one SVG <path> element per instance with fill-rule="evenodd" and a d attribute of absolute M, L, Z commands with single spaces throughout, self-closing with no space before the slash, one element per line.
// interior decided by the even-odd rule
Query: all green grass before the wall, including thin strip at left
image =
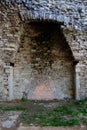
<path fill-rule="evenodd" d="M 28 125 L 74 126 L 87 124 L 87 100 L 69 101 L 68 105 L 48 109 L 42 107 L 31 114 L 26 106 L 0 107 L 3 111 L 22 111 L 21 119 Z"/>

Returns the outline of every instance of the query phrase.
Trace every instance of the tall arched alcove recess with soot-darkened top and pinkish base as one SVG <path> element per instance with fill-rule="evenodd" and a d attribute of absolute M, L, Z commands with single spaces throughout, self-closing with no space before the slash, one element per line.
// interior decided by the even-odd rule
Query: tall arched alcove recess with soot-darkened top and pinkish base
<path fill-rule="evenodd" d="M 59 24 L 25 22 L 14 65 L 14 98 L 74 97 L 71 49 Z"/>

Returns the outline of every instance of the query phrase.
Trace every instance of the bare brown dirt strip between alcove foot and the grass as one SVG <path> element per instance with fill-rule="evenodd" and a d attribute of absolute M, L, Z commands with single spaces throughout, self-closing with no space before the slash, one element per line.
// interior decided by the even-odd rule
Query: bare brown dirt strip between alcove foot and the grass
<path fill-rule="evenodd" d="M 34 101 L 25 101 L 25 102 L 20 102 L 19 100 L 14 100 L 11 102 L 0 102 L 0 106 L 3 107 L 15 107 L 15 106 L 19 106 L 19 107 L 26 107 L 29 109 L 31 115 L 36 113 L 37 111 L 39 111 L 41 108 L 45 108 L 46 111 L 50 111 L 54 108 L 56 108 L 57 106 L 62 106 L 62 105 L 68 105 L 68 101 L 65 100 L 49 100 L 49 101 L 38 101 L 38 100 L 34 100 Z"/>

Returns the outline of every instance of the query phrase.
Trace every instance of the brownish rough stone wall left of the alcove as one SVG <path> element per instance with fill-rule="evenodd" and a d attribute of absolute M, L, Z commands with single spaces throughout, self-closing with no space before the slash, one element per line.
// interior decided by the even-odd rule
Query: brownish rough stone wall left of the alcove
<path fill-rule="evenodd" d="M 0 3 L 0 100 L 8 98 L 8 77 L 10 63 L 14 63 L 20 42 L 20 24 L 17 11 L 10 11 Z"/>

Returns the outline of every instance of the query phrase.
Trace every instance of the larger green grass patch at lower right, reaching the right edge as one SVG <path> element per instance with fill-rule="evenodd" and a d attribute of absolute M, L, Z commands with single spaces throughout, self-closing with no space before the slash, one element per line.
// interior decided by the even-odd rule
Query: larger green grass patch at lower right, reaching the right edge
<path fill-rule="evenodd" d="M 28 113 L 23 113 L 24 115 Z M 87 123 L 87 101 L 73 102 L 52 111 L 43 109 L 34 114 L 30 120 L 28 118 L 24 120 L 28 124 L 40 126 L 74 126 Z"/>

